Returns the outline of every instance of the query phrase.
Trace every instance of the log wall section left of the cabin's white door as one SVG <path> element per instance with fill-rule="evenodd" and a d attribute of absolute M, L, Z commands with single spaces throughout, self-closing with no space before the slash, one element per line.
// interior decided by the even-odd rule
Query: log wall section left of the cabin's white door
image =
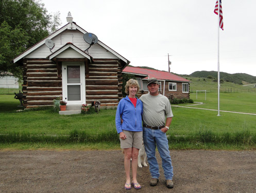
<path fill-rule="evenodd" d="M 62 79 L 58 76 L 61 68 L 47 59 L 25 59 L 23 69 L 23 106 L 52 106 L 62 94 Z"/>

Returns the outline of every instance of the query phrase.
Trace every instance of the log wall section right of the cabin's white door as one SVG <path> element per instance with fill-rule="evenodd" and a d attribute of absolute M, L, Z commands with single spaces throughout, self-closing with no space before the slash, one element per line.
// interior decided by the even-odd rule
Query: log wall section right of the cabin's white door
<path fill-rule="evenodd" d="M 118 59 L 94 59 L 86 78 L 86 102 L 100 101 L 101 106 L 117 106 L 122 99 L 123 78 Z"/>

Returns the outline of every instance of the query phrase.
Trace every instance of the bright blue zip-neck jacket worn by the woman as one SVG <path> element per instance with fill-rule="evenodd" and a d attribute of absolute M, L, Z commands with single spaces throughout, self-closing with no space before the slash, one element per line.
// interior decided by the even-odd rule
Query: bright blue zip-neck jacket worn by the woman
<path fill-rule="evenodd" d="M 143 104 L 140 99 L 137 98 L 136 108 L 128 96 L 121 99 L 115 114 L 115 126 L 117 133 L 120 133 L 123 130 L 142 131 L 142 114 Z M 121 117 L 124 121 L 123 124 L 121 124 Z"/>

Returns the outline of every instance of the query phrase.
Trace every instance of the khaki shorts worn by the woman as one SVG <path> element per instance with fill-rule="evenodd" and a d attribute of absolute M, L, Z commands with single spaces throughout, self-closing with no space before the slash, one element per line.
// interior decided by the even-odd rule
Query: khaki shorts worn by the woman
<path fill-rule="evenodd" d="M 131 148 L 135 147 L 137 149 L 142 148 L 142 131 L 126 131 L 123 130 L 126 135 L 126 139 L 120 138 L 121 148 Z"/>

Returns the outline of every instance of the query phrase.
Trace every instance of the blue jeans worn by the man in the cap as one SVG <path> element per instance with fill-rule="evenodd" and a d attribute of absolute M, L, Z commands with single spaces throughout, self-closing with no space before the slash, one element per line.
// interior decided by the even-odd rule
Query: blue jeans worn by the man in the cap
<path fill-rule="evenodd" d="M 168 139 L 161 130 L 143 127 L 143 141 L 152 178 L 159 179 L 159 166 L 156 158 L 156 146 L 162 159 L 165 180 L 173 180 L 173 166 L 170 159 Z"/>

